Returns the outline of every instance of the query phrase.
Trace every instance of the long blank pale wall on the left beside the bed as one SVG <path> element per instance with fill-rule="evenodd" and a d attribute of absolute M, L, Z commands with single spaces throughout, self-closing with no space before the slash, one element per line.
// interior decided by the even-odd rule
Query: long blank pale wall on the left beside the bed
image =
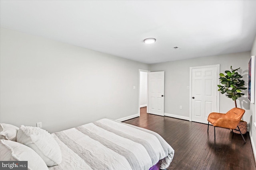
<path fill-rule="evenodd" d="M 148 70 L 148 64 L 0 31 L 1 123 L 19 127 L 42 122 L 55 132 L 138 114 L 138 70 Z"/>

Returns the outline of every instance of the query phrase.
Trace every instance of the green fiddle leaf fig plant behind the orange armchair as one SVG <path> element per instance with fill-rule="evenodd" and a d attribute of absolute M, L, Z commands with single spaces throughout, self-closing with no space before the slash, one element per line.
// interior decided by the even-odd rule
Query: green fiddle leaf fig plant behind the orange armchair
<path fill-rule="evenodd" d="M 226 93 L 226 96 L 228 96 L 228 98 L 232 98 L 232 100 L 235 101 L 235 106 L 236 105 L 236 100 L 242 96 L 244 96 L 244 93 L 241 93 L 242 90 L 246 90 L 247 88 L 244 87 L 244 80 L 242 80 L 241 78 L 243 76 L 241 76 L 238 73 L 238 69 L 232 69 L 232 66 L 230 67 L 230 70 L 226 70 L 225 74 L 220 73 L 220 83 L 221 85 L 218 85 L 219 89 L 218 91 L 221 92 L 221 94 Z"/>

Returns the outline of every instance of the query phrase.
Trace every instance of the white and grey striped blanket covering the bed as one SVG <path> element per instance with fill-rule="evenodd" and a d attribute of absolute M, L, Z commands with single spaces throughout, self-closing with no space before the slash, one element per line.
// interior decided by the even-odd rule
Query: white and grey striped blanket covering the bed
<path fill-rule="evenodd" d="M 100 119 L 52 133 L 62 150 L 62 163 L 50 170 L 148 170 L 159 160 L 160 169 L 172 162 L 174 150 L 157 133 Z"/>

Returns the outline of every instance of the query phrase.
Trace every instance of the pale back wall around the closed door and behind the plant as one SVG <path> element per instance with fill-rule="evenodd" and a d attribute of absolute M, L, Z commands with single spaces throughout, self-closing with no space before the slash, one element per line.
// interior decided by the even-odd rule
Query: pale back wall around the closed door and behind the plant
<path fill-rule="evenodd" d="M 248 51 L 150 65 L 150 71 L 165 71 L 164 113 L 177 115 L 176 117 L 189 117 L 189 90 L 187 89 L 189 67 L 220 64 L 220 72 L 229 70 L 230 66 L 232 68 L 240 67 L 238 71 L 244 76 L 245 85 L 248 86 L 249 60 L 250 52 Z M 244 93 L 247 94 L 247 90 Z M 243 119 L 249 122 L 250 104 L 247 96 L 240 98 L 237 104 L 238 107 L 246 110 Z M 182 109 L 179 106 L 182 106 Z M 235 107 L 234 101 L 220 94 L 220 112 L 226 113 L 233 107 Z"/>

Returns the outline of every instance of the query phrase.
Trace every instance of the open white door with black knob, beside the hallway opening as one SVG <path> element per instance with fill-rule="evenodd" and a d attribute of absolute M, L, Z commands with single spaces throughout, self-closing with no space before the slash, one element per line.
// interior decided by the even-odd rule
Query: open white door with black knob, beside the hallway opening
<path fill-rule="evenodd" d="M 148 113 L 164 116 L 164 71 L 148 73 Z"/>

